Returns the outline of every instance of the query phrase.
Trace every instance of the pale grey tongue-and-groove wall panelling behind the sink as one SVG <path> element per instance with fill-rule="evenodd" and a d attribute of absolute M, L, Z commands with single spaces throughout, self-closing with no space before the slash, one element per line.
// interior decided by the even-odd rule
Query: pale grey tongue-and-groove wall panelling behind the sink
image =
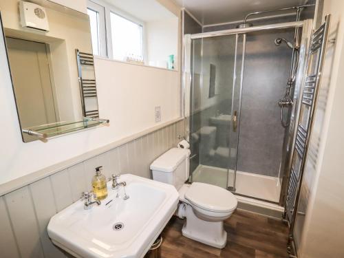
<path fill-rule="evenodd" d="M 0 196 L 0 257 L 68 257 L 52 244 L 47 224 L 92 188 L 94 168 L 103 166 L 106 177 L 132 173 L 151 178 L 149 165 L 176 146 L 179 134 L 185 136 L 184 120 Z"/>

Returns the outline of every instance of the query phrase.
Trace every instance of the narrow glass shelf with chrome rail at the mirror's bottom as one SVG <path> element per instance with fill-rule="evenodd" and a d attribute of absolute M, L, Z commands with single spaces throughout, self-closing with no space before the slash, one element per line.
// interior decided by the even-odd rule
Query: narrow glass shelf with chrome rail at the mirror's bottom
<path fill-rule="evenodd" d="M 37 127 L 30 127 L 22 129 L 23 133 L 28 133 L 30 136 L 38 138 L 50 138 L 73 131 L 80 131 L 98 125 L 108 124 L 109 120 L 100 118 L 81 118 L 76 121 L 54 122 L 47 125 L 39 125 Z"/>

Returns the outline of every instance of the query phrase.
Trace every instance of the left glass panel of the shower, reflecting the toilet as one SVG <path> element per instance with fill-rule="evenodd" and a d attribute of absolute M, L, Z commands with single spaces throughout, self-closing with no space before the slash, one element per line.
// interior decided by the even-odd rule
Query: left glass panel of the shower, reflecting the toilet
<path fill-rule="evenodd" d="M 237 35 L 191 40 L 191 182 L 225 189 L 234 188 L 237 162 L 237 41 Z"/>

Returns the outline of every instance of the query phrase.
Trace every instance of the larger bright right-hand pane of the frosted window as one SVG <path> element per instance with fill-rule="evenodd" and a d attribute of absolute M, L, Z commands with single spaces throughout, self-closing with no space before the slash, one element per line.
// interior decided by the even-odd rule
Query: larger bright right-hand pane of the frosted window
<path fill-rule="evenodd" d="M 110 13 L 113 57 L 143 60 L 142 25 Z"/>

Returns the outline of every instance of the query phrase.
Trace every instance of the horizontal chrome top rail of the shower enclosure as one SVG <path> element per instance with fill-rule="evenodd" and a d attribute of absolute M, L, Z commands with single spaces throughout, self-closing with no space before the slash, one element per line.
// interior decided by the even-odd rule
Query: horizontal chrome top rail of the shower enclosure
<path fill-rule="evenodd" d="M 235 28 L 235 29 L 230 29 L 230 30 L 218 30 L 215 32 L 191 34 L 191 39 L 203 39 L 203 38 L 210 38 L 212 36 L 245 34 L 248 32 L 257 32 L 257 31 L 262 31 L 262 30 L 287 29 L 287 28 L 295 28 L 295 27 L 302 27 L 302 26 L 303 26 L 302 21 L 292 21 L 288 23 L 275 23 L 275 24 L 259 25 L 259 26 L 248 27 L 248 28 Z"/>

